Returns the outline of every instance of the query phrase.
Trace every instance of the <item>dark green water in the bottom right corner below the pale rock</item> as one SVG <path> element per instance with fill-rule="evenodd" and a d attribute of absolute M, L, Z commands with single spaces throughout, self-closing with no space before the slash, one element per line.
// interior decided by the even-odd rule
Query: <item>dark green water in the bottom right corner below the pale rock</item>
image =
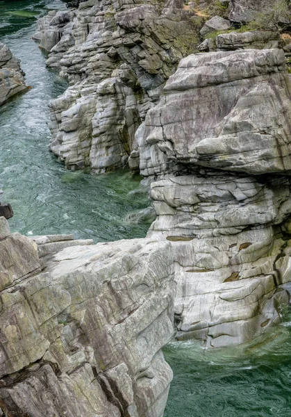
<path fill-rule="evenodd" d="M 164 417 L 290 417 L 291 314 L 248 345 L 204 350 L 170 343 L 174 371 Z"/>

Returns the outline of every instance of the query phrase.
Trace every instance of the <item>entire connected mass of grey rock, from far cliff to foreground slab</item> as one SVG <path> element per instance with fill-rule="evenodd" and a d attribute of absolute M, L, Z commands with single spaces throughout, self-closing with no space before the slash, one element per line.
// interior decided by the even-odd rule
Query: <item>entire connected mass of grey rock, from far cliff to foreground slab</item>
<path fill-rule="evenodd" d="M 70 84 L 51 103 L 52 152 L 97 174 L 128 164 L 157 218 L 145 239 L 98 245 L 3 220 L 7 416 L 162 417 L 172 336 L 251 341 L 290 302 L 288 45 L 231 32 L 251 0 L 206 25 L 202 3 L 88 0 L 40 19 L 34 38 Z"/>

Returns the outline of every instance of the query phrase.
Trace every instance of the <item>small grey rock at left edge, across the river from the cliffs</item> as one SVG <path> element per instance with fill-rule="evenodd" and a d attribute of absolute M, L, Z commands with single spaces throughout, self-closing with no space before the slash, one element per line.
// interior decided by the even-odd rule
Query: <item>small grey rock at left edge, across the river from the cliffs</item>
<path fill-rule="evenodd" d="M 19 92 L 27 91 L 20 61 L 0 42 L 0 106 Z"/>

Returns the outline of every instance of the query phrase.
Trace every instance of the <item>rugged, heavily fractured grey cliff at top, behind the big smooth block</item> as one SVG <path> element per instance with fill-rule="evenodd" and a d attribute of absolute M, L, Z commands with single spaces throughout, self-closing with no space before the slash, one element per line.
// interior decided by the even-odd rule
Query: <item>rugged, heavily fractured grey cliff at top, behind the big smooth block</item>
<path fill-rule="evenodd" d="M 126 165 L 132 153 L 138 169 L 135 132 L 194 51 L 199 22 L 173 0 L 89 0 L 41 19 L 35 39 L 70 84 L 51 104 L 51 151 L 67 167 L 97 174 Z"/>

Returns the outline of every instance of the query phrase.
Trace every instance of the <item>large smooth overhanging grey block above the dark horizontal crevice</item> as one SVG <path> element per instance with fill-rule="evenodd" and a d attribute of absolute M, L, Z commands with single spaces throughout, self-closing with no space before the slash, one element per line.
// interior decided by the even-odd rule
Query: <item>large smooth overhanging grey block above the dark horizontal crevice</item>
<path fill-rule="evenodd" d="M 147 113 L 142 174 L 177 162 L 256 175 L 291 172 L 283 50 L 190 55 L 164 91 Z"/>

